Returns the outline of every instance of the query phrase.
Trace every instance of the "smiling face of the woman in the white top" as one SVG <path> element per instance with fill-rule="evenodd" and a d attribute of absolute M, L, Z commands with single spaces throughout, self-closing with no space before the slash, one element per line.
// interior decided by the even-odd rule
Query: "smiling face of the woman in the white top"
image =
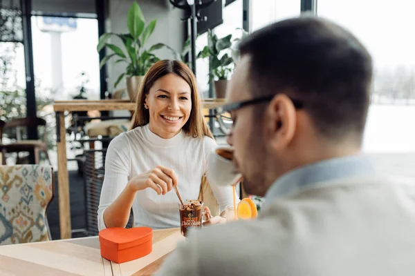
<path fill-rule="evenodd" d="M 170 139 L 180 132 L 192 110 L 191 93 L 189 84 L 172 73 L 155 81 L 145 98 L 151 132 L 163 139 Z"/>

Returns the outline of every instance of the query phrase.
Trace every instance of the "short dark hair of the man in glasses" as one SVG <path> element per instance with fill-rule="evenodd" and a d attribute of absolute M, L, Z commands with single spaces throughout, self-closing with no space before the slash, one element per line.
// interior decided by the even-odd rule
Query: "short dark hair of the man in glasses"
<path fill-rule="evenodd" d="M 273 23 L 239 45 L 250 57 L 253 97 L 285 93 L 304 102 L 321 135 L 362 139 L 370 101 L 372 61 L 350 32 L 317 17 Z"/>

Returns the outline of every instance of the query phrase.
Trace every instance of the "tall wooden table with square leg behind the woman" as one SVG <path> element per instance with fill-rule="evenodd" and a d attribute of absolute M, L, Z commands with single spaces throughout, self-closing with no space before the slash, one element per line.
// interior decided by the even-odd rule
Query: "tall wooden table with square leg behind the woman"
<path fill-rule="evenodd" d="M 205 99 L 203 108 L 212 109 L 223 104 L 223 99 Z M 133 111 L 136 103 L 124 100 L 73 100 L 55 101 L 53 110 L 56 112 L 57 128 L 57 190 L 59 193 L 59 227 L 61 239 L 71 238 L 71 207 L 69 202 L 68 167 L 66 158 L 65 112 L 90 110 L 129 110 Z"/>

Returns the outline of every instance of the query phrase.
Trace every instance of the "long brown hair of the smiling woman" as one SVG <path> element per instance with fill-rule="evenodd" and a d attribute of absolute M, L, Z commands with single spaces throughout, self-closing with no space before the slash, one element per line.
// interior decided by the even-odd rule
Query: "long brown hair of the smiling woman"
<path fill-rule="evenodd" d="M 191 137 L 211 137 L 213 139 L 212 132 L 210 132 L 208 125 L 205 122 L 202 112 L 201 99 L 196 86 L 196 79 L 193 72 L 185 63 L 175 60 L 161 60 L 154 63 L 147 71 L 140 89 L 138 90 L 136 97 L 136 111 L 134 112 L 133 119 L 131 121 L 130 130 L 149 124 L 150 115 L 149 110 L 144 108 L 145 95 L 149 94 L 151 86 L 167 74 L 174 74 L 184 79 L 189 84 L 192 97 L 192 110 L 190 111 L 190 117 L 187 119 L 186 124 L 183 126 L 183 130 Z"/>

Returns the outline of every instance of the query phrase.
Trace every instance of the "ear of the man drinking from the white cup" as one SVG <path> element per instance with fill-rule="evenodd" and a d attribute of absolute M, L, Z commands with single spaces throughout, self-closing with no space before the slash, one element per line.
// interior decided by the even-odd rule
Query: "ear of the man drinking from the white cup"
<path fill-rule="evenodd" d="M 297 113 L 293 101 L 284 94 L 275 95 L 264 116 L 266 138 L 276 150 L 286 148 L 294 137 Z"/>

